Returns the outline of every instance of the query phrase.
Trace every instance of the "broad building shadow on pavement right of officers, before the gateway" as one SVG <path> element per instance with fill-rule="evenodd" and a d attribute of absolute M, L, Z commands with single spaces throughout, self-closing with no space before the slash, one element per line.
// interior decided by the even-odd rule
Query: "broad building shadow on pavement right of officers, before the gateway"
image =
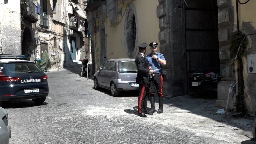
<path fill-rule="evenodd" d="M 182 110 L 190 111 L 191 113 L 211 118 L 215 121 L 219 121 L 230 125 L 232 127 L 238 127 L 243 130 L 251 131 L 253 120 L 245 118 L 231 117 L 232 112 L 229 112 L 228 117 L 216 113 L 218 109 L 214 103 L 216 96 L 177 96 L 172 98 L 164 98 L 163 103 L 169 105 L 169 107 L 175 106 Z M 158 96 L 155 96 L 155 106 L 158 107 Z M 166 107 L 166 106 L 165 106 Z M 167 108 L 167 107 L 166 107 Z"/>

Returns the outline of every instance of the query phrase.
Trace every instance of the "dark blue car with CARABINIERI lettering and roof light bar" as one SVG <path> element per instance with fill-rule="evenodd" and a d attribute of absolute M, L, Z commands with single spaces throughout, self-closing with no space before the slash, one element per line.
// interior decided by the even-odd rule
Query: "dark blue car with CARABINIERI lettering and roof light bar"
<path fill-rule="evenodd" d="M 40 104 L 48 96 L 48 76 L 24 58 L 24 55 L 0 55 L 0 104 L 21 99 Z"/>

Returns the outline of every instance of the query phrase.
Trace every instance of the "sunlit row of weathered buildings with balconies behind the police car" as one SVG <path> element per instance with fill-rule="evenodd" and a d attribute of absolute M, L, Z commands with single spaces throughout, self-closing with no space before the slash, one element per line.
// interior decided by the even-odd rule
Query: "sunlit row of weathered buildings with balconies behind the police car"
<path fill-rule="evenodd" d="M 2 54 L 22 54 L 37 62 L 47 51 L 51 68 L 90 59 L 83 0 L 3 0 L 0 7 Z"/>

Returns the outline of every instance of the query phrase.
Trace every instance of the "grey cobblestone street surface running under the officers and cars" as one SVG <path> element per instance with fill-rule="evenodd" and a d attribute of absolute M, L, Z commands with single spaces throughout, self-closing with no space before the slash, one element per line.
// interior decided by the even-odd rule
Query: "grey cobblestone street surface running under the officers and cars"
<path fill-rule="evenodd" d="M 141 118 L 138 92 L 113 97 L 109 90 L 95 90 L 93 75 L 81 78 L 79 67 L 46 74 L 50 91 L 42 105 L 32 100 L 4 103 L 12 127 L 10 144 L 255 143 L 250 140 L 252 120 L 217 114 L 215 99 L 207 96 L 166 97 L 162 114 Z"/>

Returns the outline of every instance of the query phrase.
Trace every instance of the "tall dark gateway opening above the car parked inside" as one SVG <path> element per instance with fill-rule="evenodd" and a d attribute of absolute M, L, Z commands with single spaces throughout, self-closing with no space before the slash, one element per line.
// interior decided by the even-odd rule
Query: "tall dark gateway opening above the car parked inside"
<path fill-rule="evenodd" d="M 217 0 L 181 0 L 184 93 L 194 71 L 219 66 Z"/>

